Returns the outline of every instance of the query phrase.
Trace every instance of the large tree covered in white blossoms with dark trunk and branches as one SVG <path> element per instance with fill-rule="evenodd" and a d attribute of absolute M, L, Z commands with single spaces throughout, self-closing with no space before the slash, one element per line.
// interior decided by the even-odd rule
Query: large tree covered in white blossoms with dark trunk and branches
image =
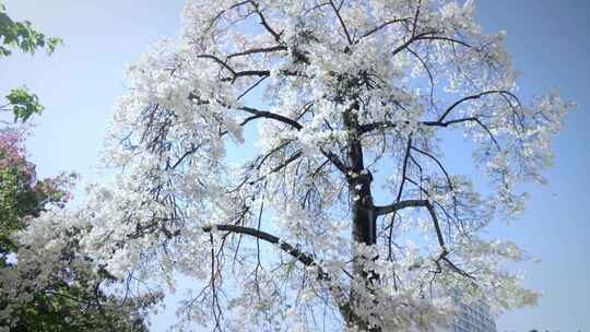
<path fill-rule="evenodd" d="M 503 268 L 518 247 L 481 233 L 521 212 L 515 185 L 542 180 L 571 105 L 521 102 L 504 33 L 473 10 L 189 1 L 180 39 L 129 70 L 115 180 L 36 225 L 79 229 L 117 277 L 193 277 L 179 313 L 215 330 L 428 330 L 458 288 L 497 310 L 534 304 Z M 453 132 L 482 192 L 448 166 Z"/>

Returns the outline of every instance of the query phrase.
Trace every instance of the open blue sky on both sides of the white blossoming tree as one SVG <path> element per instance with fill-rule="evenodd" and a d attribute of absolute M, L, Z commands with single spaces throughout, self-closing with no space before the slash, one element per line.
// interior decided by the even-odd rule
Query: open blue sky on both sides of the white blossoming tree
<path fill-rule="evenodd" d="M 161 38 L 176 36 L 180 0 L 5 0 L 14 19 L 31 20 L 66 45 L 51 57 L 0 59 L 0 95 L 26 84 L 46 106 L 28 141 L 42 176 L 75 170 L 97 180 L 93 166 L 123 69 Z M 523 72 L 521 94 L 552 86 L 577 102 L 555 139 L 547 186 L 527 186 L 526 214 L 492 229 L 521 244 L 539 264 L 519 265 L 545 296 L 538 307 L 506 313 L 498 331 L 590 331 L 590 1 L 480 0 L 484 31 L 508 32 L 507 48 Z M 157 322 L 156 322 L 157 323 Z M 162 324 L 157 323 L 156 327 Z"/>

